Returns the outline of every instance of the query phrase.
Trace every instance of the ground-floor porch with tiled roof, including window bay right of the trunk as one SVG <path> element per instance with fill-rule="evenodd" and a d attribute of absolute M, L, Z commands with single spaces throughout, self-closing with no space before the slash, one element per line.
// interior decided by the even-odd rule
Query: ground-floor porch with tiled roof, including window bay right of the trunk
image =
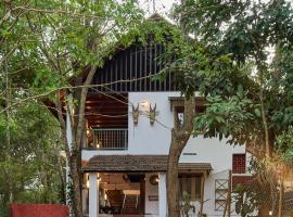
<path fill-rule="evenodd" d="M 89 217 L 166 217 L 167 155 L 97 155 L 84 168 L 82 207 Z M 211 164 L 180 164 L 180 195 L 196 206 Z M 190 216 L 196 216 L 194 215 Z"/>

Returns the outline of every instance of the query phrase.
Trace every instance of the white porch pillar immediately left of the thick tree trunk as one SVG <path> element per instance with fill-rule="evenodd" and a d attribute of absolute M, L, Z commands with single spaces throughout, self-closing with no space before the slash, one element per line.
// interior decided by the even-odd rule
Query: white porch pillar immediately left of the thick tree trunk
<path fill-rule="evenodd" d="M 167 216 L 166 173 L 158 174 L 158 216 Z"/>

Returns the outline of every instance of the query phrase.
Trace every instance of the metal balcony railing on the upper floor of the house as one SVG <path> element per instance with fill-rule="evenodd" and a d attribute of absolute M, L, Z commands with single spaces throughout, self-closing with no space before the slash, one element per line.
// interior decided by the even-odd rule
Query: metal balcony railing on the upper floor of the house
<path fill-rule="evenodd" d="M 128 129 L 92 129 L 88 137 L 88 148 L 99 150 L 127 150 Z"/>

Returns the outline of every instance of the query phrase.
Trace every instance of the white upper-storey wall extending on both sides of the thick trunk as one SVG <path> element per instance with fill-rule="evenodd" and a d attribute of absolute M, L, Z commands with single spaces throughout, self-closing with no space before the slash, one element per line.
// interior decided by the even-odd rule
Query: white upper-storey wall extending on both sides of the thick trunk
<path fill-rule="evenodd" d="M 179 92 L 129 92 L 129 101 L 137 105 L 138 103 L 148 101 L 152 105 L 156 104 L 158 112 L 157 120 L 153 126 L 150 125 L 150 119 L 146 117 L 146 111 L 140 106 L 142 114 L 139 117 L 137 126 L 133 125 L 131 116 L 131 106 L 129 106 L 128 116 L 128 150 L 126 151 L 82 151 L 82 159 L 89 159 L 95 154 L 168 154 L 170 144 L 170 129 L 174 125 L 174 116 L 170 111 L 170 102 L 168 97 L 179 97 Z M 220 152 L 217 152 L 220 151 Z M 218 166 L 217 158 L 222 161 L 222 156 L 229 153 L 242 153 L 244 148 L 232 146 L 226 144 L 225 141 L 219 142 L 218 139 L 191 138 L 183 153 L 196 153 L 192 156 L 182 156 L 182 162 L 205 162 L 213 159 L 215 169 L 220 170 L 221 167 L 227 167 L 228 162 Z M 219 155 L 218 155 L 219 154 Z"/>

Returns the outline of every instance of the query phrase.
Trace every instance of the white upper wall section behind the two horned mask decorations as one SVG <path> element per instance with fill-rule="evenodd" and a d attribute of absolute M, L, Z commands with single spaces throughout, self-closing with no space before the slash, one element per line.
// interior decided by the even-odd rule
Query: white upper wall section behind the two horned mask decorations
<path fill-rule="evenodd" d="M 130 92 L 128 98 L 131 103 L 148 101 L 158 112 L 157 120 L 153 126 L 146 117 L 146 110 L 140 106 L 144 113 L 140 115 L 139 123 L 133 126 L 132 116 L 128 116 L 129 123 L 129 153 L 131 154 L 168 154 L 170 143 L 170 129 L 173 127 L 173 113 L 168 97 L 179 95 L 176 92 Z M 130 112 L 131 112 L 131 107 Z M 164 125 L 164 126 L 163 126 Z"/>

